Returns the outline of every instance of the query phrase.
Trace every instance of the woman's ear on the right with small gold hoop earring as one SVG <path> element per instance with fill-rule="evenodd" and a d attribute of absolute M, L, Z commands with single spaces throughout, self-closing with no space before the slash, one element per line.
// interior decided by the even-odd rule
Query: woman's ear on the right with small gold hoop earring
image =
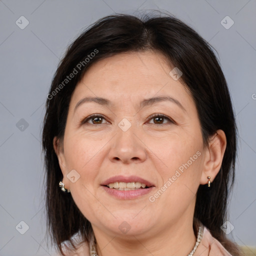
<path fill-rule="evenodd" d="M 210 137 L 208 146 L 205 151 L 203 171 L 200 184 L 208 182 L 207 176 L 210 176 L 212 182 L 220 170 L 223 155 L 226 149 L 226 136 L 223 130 L 218 129 L 216 133 Z"/>

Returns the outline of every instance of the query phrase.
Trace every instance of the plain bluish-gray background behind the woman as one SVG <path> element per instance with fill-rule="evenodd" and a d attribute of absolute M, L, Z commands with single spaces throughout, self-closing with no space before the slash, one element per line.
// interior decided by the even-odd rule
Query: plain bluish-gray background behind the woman
<path fill-rule="evenodd" d="M 239 130 L 229 237 L 256 245 L 255 0 L 0 0 L 1 256 L 54 255 L 46 246 L 40 131 L 50 81 L 67 44 L 102 16 L 146 9 L 176 15 L 218 52 Z M 24 29 L 15 23 L 21 15 L 29 21 Z M 221 24 L 226 15 L 234 21 L 229 29 Z M 24 234 L 17 231 L 24 224 L 15 228 L 21 220 L 29 226 Z"/>

